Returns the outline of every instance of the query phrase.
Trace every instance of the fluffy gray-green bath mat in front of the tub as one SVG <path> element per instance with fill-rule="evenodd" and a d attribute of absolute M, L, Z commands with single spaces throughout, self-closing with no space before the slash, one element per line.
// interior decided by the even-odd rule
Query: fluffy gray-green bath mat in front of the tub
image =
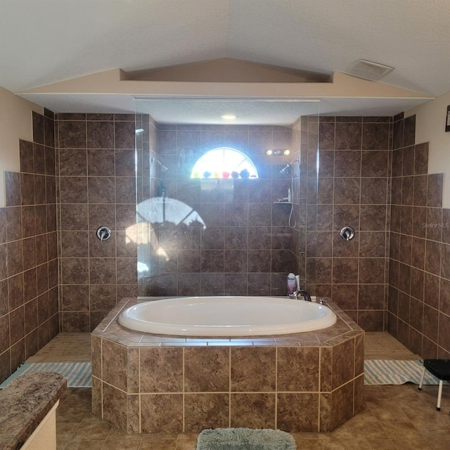
<path fill-rule="evenodd" d="M 198 435 L 197 450 L 295 450 L 295 440 L 281 430 L 214 428 Z"/>

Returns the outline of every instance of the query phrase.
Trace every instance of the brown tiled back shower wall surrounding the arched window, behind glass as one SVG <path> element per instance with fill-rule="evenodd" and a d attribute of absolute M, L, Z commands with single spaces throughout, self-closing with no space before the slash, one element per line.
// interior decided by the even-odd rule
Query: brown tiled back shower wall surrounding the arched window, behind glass
<path fill-rule="evenodd" d="M 259 179 L 191 179 L 193 163 L 221 146 L 248 155 Z M 153 224 L 158 244 L 151 259 L 157 269 L 143 295 L 285 295 L 285 278 L 297 272 L 298 262 L 290 205 L 274 201 L 285 197 L 290 185 L 280 170 L 298 155 L 276 158 L 265 151 L 290 146 L 291 129 L 285 127 L 158 126 L 158 158 L 169 170 L 155 183 L 162 181 L 167 197 L 197 211 L 206 229 L 198 222 Z M 192 157 L 183 160 L 182 151 Z"/>

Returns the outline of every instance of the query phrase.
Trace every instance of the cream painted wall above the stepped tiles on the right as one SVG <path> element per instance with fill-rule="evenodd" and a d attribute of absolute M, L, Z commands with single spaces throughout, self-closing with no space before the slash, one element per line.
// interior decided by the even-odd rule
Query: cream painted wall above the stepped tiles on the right
<path fill-rule="evenodd" d="M 405 117 L 416 114 L 416 143 L 430 143 L 428 173 L 444 174 L 444 208 L 450 208 L 450 132 L 445 131 L 448 105 L 450 92 L 405 113 Z"/>

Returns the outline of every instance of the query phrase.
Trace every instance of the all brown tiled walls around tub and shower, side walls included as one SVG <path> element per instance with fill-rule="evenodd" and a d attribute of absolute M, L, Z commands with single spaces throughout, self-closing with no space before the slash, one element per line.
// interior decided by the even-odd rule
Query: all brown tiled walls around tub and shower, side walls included
<path fill-rule="evenodd" d="M 169 260 L 159 259 L 160 275 L 142 293 L 283 295 L 285 274 L 297 269 L 311 293 L 331 295 L 364 329 L 383 330 L 387 319 L 390 333 L 416 353 L 448 356 L 450 213 L 442 209 L 442 174 L 428 175 L 427 144 L 414 145 L 414 117 L 321 117 L 320 126 L 316 118 L 304 118 L 293 130 L 160 125 L 157 135 L 148 117 L 53 118 L 46 111 L 33 115 L 34 141 L 20 142 L 20 174 L 6 173 L 7 203 L 0 210 L 2 377 L 58 332 L 58 262 L 63 331 L 89 331 L 117 300 L 137 295 L 135 127 L 144 129 L 136 140 L 138 200 L 156 189 L 159 174 L 152 175 L 150 158 L 158 155 L 169 167 L 162 176 L 167 195 L 195 207 L 210 225 L 158 226 L 153 238 Z M 393 153 L 387 151 L 392 129 Z M 181 148 L 203 152 L 215 146 L 248 153 L 261 179 L 234 181 L 231 190 L 189 179 L 178 164 Z M 264 155 L 266 148 L 285 146 L 302 150 L 294 176 L 294 230 L 287 226 L 288 205 L 273 203 L 289 184 L 279 174 L 286 161 Z M 105 243 L 95 236 L 100 225 L 113 230 Z M 356 230 L 350 243 L 338 238 L 344 225 Z"/>

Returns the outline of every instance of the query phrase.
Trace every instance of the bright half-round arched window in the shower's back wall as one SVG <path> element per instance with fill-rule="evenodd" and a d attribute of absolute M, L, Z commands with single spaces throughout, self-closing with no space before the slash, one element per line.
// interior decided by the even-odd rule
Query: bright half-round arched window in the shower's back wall
<path fill-rule="evenodd" d="M 258 172 L 247 155 L 231 147 L 219 147 L 202 155 L 191 172 L 191 178 L 258 178 Z"/>

